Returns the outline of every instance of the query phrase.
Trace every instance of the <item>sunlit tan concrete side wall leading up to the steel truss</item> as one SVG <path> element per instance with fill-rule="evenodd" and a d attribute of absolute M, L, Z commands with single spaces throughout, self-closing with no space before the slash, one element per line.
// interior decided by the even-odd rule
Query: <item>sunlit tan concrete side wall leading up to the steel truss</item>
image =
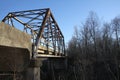
<path fill-rule="evenodd" d="M 0 45 L 27 48 L 31 52 L 31 36 L 3 22 L 0 23 Z"/>

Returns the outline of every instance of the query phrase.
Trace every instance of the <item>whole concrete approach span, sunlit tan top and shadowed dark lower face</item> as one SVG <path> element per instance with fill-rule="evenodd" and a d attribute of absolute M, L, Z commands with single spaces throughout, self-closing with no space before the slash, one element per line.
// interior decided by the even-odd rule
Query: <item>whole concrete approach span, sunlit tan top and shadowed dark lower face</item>
<path fill-rule="evenodd" d="M 31 36 L 0 23 L 0 71 L 23 71 L 31 57 Z"/>

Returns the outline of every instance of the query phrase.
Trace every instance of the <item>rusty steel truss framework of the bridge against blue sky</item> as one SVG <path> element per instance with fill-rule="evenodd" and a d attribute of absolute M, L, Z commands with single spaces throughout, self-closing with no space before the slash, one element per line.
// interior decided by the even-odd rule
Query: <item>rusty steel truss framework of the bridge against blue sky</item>
<path fill-rule="evenodd" d="M 64 36 L 49 8 L 10 12 L 2 21 L 31 35 L 33 57 L 42 49 L 46 55 L 65 55 Z"/>

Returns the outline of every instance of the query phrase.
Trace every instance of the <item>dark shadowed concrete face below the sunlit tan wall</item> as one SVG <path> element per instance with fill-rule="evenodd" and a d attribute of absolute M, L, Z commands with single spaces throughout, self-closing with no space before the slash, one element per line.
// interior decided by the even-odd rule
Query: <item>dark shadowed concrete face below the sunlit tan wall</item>
<path fill-rule="evenodd" d="M 0 46 L 0 71 L 23 71 L 30 63 L 29 56 L 27 49 Z"/>

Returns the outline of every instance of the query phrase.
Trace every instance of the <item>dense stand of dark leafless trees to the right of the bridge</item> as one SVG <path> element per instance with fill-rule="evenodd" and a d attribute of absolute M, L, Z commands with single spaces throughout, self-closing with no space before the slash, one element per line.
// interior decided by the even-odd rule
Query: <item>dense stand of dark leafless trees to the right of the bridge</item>
<path fill-rule="evenodd" d="M 120 17 L 111 22 L 90 12 L 66 46 L 68 80 L 120 80 Z"/>

